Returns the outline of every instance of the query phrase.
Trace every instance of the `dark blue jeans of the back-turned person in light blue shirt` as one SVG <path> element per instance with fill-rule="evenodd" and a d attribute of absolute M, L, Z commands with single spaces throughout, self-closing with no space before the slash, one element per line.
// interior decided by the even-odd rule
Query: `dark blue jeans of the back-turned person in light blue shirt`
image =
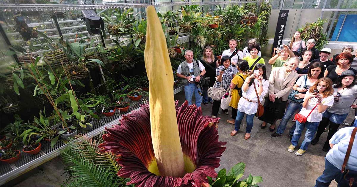
<path fill-rule="evenodd" d="M 341 170 L 329 162 L 325 157 L 325 170 L 323 170 L 322 175 L 316 179 L 315 187 L 328 187 L 333 180 L 338 183 L 340 182 L 340 175 L 342 175 Z"/>

